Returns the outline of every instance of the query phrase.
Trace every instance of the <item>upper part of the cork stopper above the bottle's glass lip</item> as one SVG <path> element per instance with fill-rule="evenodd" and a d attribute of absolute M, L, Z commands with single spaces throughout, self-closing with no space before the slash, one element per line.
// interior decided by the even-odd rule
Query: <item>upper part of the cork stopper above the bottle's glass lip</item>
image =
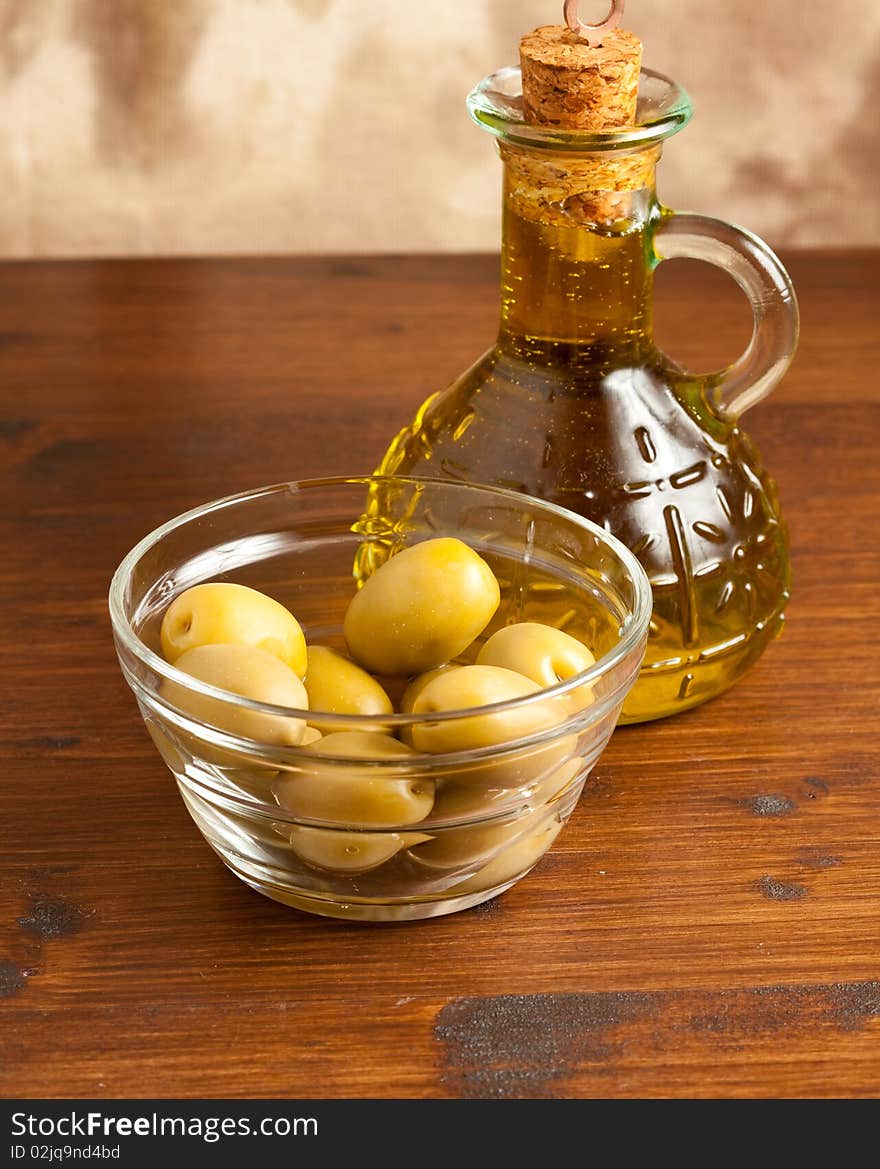
<path fill-rule="evenodd" d="M 564 25 L 545 25 L 520 41 L 526 122 L 602 131 L 636 120 L 642 41 L 608 29 L 597 48 Z"/>

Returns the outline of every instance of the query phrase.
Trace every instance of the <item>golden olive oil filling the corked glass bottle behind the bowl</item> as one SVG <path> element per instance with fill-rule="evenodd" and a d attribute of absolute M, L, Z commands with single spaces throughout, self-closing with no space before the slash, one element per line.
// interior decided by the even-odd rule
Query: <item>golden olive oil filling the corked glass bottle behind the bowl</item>
<path fill-rule="evenodd" d="M 633 155 L 642 178 L 623 195 L 597 188 L 601 171 L 582 159 L 554 159 L 561 200 L 524 165 L 541 152 L 501 153 L 498 341 L 424 402 L 379 471 L 515 489 L 623 540 L 654 608 L 622 721 L 660 718 L 726 690 L 779 631 L 790 570 L 776 487 L 715 408 L 716 379 L 653 343 L 653 237 L 667 214 L 653 193 L 658 148 Z"/>

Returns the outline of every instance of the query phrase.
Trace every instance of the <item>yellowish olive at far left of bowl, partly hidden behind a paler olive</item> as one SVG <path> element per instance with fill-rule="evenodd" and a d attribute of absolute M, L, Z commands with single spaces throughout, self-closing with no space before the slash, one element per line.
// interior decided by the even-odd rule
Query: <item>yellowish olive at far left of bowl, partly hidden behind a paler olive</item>
<path fill-rule="evenodd" d="M 174 665 L 199 645 L 255 645 L 280 658 L 298 678 L 305 673 L 305 637 L 278 601 L 248 588 L 214 581 L 174 597 L 159 631 L 162 655 Z"/>

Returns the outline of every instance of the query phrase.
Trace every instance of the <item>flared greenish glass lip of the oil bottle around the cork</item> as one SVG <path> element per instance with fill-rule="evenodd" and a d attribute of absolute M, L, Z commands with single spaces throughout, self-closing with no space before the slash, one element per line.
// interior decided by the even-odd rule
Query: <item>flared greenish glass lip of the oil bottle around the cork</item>
<path fill-rule="evenodd" d="M 501 141 L 534 148 L 593 153 L 617 150 L 637 150 L 663 141 L 682 130 L 693 115 L 693 103 L 678 82 L 656 69 L 644 65 L 639 70 L 639 92 L 651 88 L 659 91 L 654 110 L 644 122 L 616 130 L 560 130 L 536 126 L 526 122 L 521 111 L 499 104 L 498 98 L 515 101 L 522 92 L 519 65 L 506 65 L 484 77 L 467 95 L 467 110 L 484 130 Z"/>

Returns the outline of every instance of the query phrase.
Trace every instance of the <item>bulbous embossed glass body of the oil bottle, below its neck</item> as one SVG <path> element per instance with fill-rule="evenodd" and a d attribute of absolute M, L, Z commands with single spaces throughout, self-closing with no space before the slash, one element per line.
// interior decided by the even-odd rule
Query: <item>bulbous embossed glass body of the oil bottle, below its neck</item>
<path fill-rule="evenodd" d="M 608 526 L 654 594 L 624 721 L 685 710 L 778 631 L 789 567 L 775 485 L 742 430 L 657 351 L 608 372 L 607 353 L 596 365 L 562 348 L 543 367 L 493 350 L 402 431 L 381 470 L 430 475 L 429 447 L 444 473 L 514 482 Z"/>

